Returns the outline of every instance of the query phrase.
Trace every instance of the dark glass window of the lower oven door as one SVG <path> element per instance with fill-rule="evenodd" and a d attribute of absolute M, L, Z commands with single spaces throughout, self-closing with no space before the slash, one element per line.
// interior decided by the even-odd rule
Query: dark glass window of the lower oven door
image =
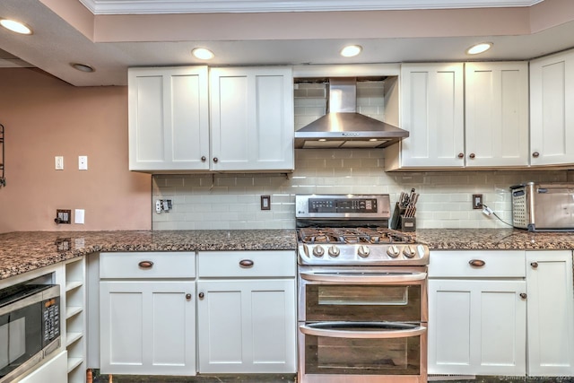
<path fill-rule="evenodd" d="M 305 335 L 307 374 L 419 375 L 420 366 L 421 335 L 396 338 Z"/>

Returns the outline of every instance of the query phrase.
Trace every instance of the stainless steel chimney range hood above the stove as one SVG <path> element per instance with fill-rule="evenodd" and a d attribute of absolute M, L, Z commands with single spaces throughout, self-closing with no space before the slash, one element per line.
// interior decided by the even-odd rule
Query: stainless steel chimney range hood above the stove
<path fill-rule="evenodd" d="M 295 148 L 384 148 L 409 132 L 357 113 L 357 79 L 329 79 L 327 113 L 295 132 Z"/>

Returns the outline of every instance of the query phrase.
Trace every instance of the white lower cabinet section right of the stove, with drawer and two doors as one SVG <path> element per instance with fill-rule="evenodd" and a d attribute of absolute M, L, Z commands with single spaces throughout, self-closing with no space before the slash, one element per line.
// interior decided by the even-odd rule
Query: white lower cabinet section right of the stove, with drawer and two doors
<path fill-rule="evenodd" d="M 434 251 L 429 374 L 574 376 L 572 251 Z"/>

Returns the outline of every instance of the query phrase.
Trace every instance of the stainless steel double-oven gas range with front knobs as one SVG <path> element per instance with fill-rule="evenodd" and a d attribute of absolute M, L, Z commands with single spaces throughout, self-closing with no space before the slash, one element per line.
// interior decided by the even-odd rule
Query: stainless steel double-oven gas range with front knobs
<path fill-rule="evenodd" d="M 298 195 L 300 383 L 427 381 L 429 248 L 388 195 Z"/>

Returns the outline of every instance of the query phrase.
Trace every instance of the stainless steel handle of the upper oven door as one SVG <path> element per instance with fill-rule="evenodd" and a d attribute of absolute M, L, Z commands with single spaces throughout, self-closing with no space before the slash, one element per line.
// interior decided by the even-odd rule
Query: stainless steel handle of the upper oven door
<path fill-rule="evenodd" d="M 380 283 L 408 283 L 424 281 L 426 273 L 409 274 L 313 274 L 300 273 L 300 277 L 309 282 L 315 283 L 353 283 L 353 284 L 380 284 Z"/>

